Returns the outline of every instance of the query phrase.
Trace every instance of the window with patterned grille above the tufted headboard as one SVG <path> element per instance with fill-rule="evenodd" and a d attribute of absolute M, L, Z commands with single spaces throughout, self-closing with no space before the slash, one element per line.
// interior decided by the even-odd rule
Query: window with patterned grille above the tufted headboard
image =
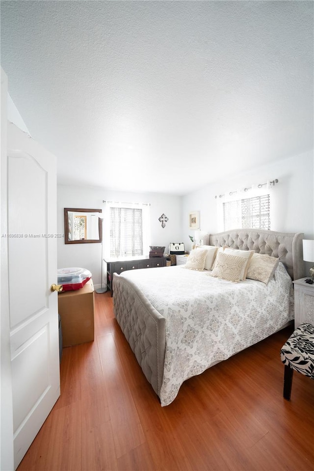
<path fill-rule="evenodd" d="M 260 228 L 270 230 L 270 195 L 223 203 L 224 230 Z"/>

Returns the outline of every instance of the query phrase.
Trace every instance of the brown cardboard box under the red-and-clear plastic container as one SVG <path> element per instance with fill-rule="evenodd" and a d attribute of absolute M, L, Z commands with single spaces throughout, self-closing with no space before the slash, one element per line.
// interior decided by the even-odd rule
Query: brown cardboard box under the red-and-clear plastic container
<path fill-rule="evenodd" d="M 63 347 L 94 340 L 94 286 L 92 280 L 76 291 L 58 293 L 58 311 L 61 317 Z"/>

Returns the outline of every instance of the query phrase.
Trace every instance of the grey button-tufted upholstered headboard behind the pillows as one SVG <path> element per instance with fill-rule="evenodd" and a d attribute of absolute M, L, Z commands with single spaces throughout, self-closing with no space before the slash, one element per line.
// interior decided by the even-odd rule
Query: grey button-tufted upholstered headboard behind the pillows
<path fill-rule="evenodd" d="M 233 247 L 254 250 L 259 254 L 277 257 L 286 266 L 292 280 L 304 276 L 303 234 L 266 231 L 264 229 L 232 229 L 218 234 L 207 234 L 204 245 Z"/>

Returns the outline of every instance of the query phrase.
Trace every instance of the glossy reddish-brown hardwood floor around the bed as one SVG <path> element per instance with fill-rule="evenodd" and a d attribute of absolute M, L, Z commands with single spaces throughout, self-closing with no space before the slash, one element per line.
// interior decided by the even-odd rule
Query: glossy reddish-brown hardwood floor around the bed
<path fill-rule="evenodd" d="M 280 348 L 291 328 L 183 383 L 161 407 L 95 293 L 95 341 L 63 349 L 61 396 L 21 462 L 31 470 L 314 469 L 314 381 L 283 398 Z"/>

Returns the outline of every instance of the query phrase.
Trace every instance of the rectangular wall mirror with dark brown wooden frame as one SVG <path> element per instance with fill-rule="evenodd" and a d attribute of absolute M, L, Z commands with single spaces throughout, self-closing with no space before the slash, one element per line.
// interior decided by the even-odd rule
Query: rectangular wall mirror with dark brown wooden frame
<path fill-rule="evenodd" d="M 101 209 L 64 208 L 64 243 L 92 244 L 102 242 Z"/>

